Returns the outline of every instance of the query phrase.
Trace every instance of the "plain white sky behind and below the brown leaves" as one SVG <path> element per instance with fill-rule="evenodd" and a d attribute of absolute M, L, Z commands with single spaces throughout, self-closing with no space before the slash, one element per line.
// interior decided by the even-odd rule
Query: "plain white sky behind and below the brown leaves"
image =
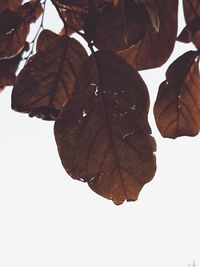
<path fill-rule="evenodd" d="M 177 44 L 170 62 L 189 47 Z M 165 69 L 143 73 L 152 102 Z M 12 111 L 10 92 L 0 95 L 0 266 L 200 266 L 199 136 L 161 138 L 151 110 L 157 173 L 137 202 L 115 206 L 67 176 L 53 122 Z"/>

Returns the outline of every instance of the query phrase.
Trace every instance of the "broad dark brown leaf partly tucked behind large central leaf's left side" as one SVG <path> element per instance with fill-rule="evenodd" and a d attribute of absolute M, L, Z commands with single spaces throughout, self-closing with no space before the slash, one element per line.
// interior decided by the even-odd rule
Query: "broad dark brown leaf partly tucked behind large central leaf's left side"
<path fill-rule="evenodd" d="M 48 34 L 46 31 L 46 35 Z M 42 39 L 44 33 L 42 33 Z M 12 108 L 46 120 L 55 120 L 74 90 L 80 68 L 87 58 L 82 45 L 67 36 L 52 37 L 20 72 L 12 93 Z M 44 47 L 46 48 L 44 50 Z"/>

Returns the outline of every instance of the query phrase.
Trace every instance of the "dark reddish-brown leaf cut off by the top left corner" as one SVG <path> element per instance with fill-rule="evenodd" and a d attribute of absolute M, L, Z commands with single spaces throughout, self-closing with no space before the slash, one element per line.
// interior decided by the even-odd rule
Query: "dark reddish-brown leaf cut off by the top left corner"
<path fill-rule="evenodd" d="M 0 16 L 0 59 L 15 57 L 23 50 L 29 25 L 41 11 L 40 3 L 35 1 L 20 6 L 15 12 L 4 11 Z"/>

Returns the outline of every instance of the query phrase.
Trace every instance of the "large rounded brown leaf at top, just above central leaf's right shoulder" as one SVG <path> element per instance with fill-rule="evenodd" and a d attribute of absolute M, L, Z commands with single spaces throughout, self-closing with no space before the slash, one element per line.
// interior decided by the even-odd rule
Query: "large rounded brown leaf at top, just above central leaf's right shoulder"
<path fill-rule="evenodd" d="M 152 27 L 136 45 L 119 53 L 137 70 L 159 67 L 171 55 L 177 34 L 178 1 L 155 1 L 159 32 Z"/>

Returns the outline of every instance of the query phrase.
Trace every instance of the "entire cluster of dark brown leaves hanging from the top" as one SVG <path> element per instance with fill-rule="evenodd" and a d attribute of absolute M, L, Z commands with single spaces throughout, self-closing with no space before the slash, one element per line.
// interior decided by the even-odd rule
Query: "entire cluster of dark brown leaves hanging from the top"
<path fill-rule="evenodd" d="M 178 0 L 51 2 L 63 22 L 60 34 L 43 27 L 46 0 L 0 0 L 0 88 L 13 85 L 15 111 L 55 121 L 58 152 L 72 178 L 115 204 L 134 201 L 156 171 L 149 94 L 138 71 L 162 66 L 176 40 L 197 49 L 169 66 L 155 120 L 164 137 L 200 130 L 200 2 L 183 0 L 186 27 L 178 37 Z"/>

